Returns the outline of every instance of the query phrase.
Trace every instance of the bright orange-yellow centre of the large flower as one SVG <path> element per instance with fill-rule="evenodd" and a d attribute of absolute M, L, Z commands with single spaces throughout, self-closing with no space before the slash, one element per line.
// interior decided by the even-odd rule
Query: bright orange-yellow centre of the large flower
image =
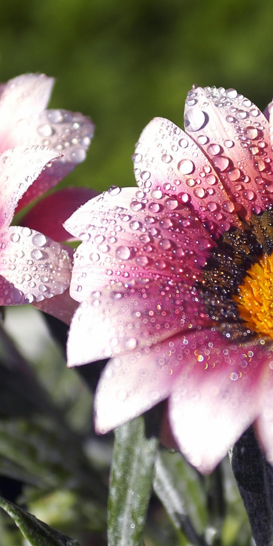
<path fill-rule="evenodd" d="M 273 339 L 273 254 L 248 269 L 233 299 L 247 327 Z"/>

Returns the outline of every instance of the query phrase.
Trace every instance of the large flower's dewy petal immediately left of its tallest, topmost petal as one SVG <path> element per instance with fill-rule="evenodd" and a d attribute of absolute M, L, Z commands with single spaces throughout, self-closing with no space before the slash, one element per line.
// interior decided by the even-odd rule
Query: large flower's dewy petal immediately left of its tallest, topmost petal
<path fill-rule="evenodd" d="M 136 182 L 142 191 L 175 195 L 218 236 L 240 225 L 235 207 L 206 155 L 191 136 L 169 120 L 153 119 L 133 155 Z"/>

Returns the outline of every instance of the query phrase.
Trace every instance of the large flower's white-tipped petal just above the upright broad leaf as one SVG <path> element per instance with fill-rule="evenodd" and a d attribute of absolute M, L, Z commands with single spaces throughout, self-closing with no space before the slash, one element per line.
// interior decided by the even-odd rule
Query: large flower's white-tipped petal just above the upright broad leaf
<path fill-rule="evenodd" d="M 180 348 L 174 354 L 177 339 L 169 337 L 106 364 L 94 398 L 97 433 L 115 429 L 170 395 L 183 366 Z"/>

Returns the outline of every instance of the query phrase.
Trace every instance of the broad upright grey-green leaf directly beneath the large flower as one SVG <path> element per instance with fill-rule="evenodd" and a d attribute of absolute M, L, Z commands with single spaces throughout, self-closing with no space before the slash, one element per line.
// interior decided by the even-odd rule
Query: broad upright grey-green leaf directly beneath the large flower
<path fill-rule="evenodd" d="M 140 546 L 158 441 L 145 435 L 144 417 L 115 431 L 108 501 L 108 545 Z"/>

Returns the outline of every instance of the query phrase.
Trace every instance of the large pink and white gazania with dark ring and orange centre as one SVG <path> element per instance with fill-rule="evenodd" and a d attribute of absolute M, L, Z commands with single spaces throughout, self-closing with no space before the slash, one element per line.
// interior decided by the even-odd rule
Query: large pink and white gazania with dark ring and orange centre
<path fill-rule="evenodd" d="M 138 189 L 111 187 L 65 224 L 82 240 L 68 365 L 111 357 L 96 430 L 168 399 L 201 472 L 254 420 L 273 460 L 270 121 L 233 89 L 194 86 L 186 132 L 155 118 L 141 134 Z"/>

